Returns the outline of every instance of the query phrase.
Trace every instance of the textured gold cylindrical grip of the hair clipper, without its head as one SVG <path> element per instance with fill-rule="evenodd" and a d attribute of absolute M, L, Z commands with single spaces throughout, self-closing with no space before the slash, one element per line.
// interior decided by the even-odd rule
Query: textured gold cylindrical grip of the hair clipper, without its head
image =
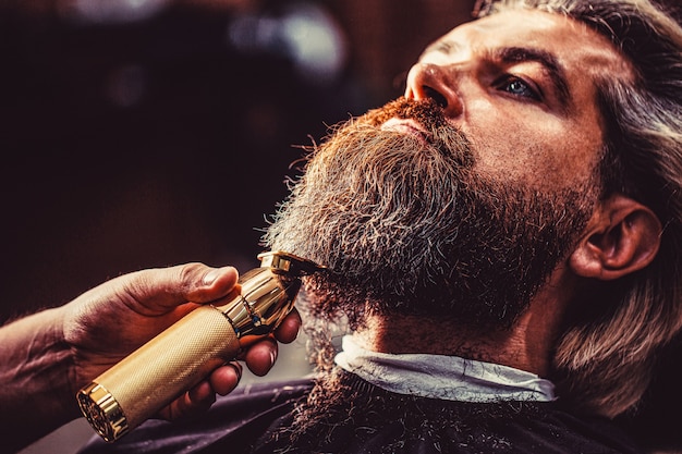
<path fill-rule="evenodd" d="M 214 306 L 200 306 L 95 379 L 78 393 L 78 403 L 99 434 L 113 441 L 239 351 L 226 316 Z"/>

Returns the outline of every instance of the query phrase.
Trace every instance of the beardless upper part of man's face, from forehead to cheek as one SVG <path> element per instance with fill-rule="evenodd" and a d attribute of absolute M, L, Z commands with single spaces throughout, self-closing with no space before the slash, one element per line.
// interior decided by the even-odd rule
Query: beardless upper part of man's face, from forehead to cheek
<path fill-rule="evenodd" d="M 454 28 L 410 72 L 473 143 L 477 171 L 557 189 L 589 177 L 604 142 L 597 77 L 626 77 L 606 38 L 559 14 L 508 11 Z"/>

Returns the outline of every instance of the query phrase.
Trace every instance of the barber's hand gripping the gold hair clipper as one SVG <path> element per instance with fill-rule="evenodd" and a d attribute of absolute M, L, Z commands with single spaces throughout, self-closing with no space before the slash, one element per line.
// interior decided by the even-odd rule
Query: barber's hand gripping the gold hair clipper
<path fill-rule="evenodd" d="M 75 360 L 74 395 L 199 304 L 234 292 L 236 280 L 238 272 L 231 267 L 188 263 L 149 269 L 108 281 L 63 306 L 64 338 Z M 300 326 L 299 314 L 293 310 L 273 335 L 251 346 L 239 359 L 255 375 L 267 373 L 277 358 L 277 341 L 292 342 Z M 219 367 L 159 416 L 178 419 L 208 408 L 216 393 L 234 390 L 241 371 L 236 361 Z"/>

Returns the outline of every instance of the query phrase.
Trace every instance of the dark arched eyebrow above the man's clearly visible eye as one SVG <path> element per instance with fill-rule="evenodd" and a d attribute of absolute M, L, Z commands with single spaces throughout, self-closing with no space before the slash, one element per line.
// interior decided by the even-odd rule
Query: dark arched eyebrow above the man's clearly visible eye
<path fill-rule="evenodd" d="M 526 61 L 537 62 L 547 72 L 551 79 L 557 98 L 563 110 L 569 110 L 572 106 L 571 90 L 569 89 L 568 78 L 563 66 L 557 58 L 543 49 L 525 48 L 525 47 L 506 47 L 496 49 L 494 57 L 502 63 L 521 63 Z"/>

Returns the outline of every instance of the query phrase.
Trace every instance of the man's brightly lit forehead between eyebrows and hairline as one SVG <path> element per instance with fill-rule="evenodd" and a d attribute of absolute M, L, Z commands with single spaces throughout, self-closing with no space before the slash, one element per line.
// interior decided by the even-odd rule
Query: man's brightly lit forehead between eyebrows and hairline
<path fill-rule="evenodd" d="M 442 52 L 447 48 L 448 52 Z M 632 77 L 625 57 L 604 36 L 558 13 L 513 9 L 454 28 L 429 48 L 453 57 L 458 51 L 490 54 L 500 48 L 538 49 L 553 56 L 561 68 L 576 75 Z M 431 52 L 439 49 L 439 52 Z M 443 58 L 446 56 L 442 56 Z M 438 58 L 438 57 L 436 57 Z"/>

